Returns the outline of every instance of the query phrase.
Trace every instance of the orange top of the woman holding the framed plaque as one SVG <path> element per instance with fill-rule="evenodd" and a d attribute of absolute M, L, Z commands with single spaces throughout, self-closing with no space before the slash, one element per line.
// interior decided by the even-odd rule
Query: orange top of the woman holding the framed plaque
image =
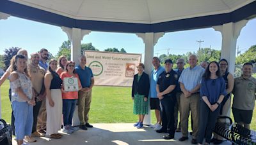
<path fill-rule="evenodd" d="M 64 71 L 60 74 L 60 78 L 62 80 L 64 80 L 64 78 L 70 78 L 70 77 L 76 77 L 78 80 L 78 86 L 81 87 L 81 82 L 79 79 L 78 74 L 74 74 L 74 76 L 68 74 L 67 71 Z M 78 92 L 66 92 L 66 93 L 62 93 L 62 99 L 78 99 Z"/>

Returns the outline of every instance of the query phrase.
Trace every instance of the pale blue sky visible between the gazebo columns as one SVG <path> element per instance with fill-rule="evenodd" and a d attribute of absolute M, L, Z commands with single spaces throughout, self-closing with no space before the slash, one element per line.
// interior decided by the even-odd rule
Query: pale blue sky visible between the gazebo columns
<path fill-rule="evenodd" d="M 256 18 L 249 20 L 243 27 L 237 46 L 241 53 L 252 45 L 256 45 Z M 0 20 L 0 54 L 10 47 L 20 47 L 28 50 L 28 53 L 37 52 L 40 48 L 47 48 L 53 55 L 58 53 L 59 47 L 68 37 L 60 27 L 34 22 L 17 17 L 9 17 Z M 154 56 L 167 54 L 186 54 L 196 52 L 199 48 L 210 47 L 221 50 L 221 33 L 212 28 L 196 29 L 190 31 L 167 32 L 157 41 L 154 47 Z M 124 48 L 127 53 L 144 53 L 145 45 L 136 34 L 116 32 L 91 32 L 84 36 L 81 43 L 92 43 L 95 48 L 104 51 L 106 48 Z"/>

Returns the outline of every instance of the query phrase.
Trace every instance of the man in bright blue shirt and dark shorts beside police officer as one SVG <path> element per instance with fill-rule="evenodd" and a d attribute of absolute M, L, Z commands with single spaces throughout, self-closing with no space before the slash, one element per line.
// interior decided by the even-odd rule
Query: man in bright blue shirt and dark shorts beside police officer
<path fill-rule="evenodd" d="M 150 73 L 150 109 L 155 110 L 157 123 L 155 125 L 152 125 L 151 127 L 153 127 L 154 130 L 160 130 L 162 128 L 162 120 L 160 115 L 160 102 L 156 92 L 156 84 L 159 75 L 164 72 L 164 67 L 160 66 L 160 60 L 158 59 L 158 57 L 153 57 L 152 64 L 154 66 L 154 69 Z"/>

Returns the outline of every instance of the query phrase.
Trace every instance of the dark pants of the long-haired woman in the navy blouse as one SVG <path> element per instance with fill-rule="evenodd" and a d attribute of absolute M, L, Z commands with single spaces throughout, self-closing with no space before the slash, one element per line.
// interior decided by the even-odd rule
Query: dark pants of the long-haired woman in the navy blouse
<path fill-rule="evenodd" d="M 220 114 L 220 106 L 215 111 L 207 106 L 204 100 L 200 100 L 200 113 L 199 113 L 199 132 L 198 132 L 198 143 L 202 144 L 205 137 L 205 142 L 211 142 L 212 132 L 215 127 L 217 117 Z"/>

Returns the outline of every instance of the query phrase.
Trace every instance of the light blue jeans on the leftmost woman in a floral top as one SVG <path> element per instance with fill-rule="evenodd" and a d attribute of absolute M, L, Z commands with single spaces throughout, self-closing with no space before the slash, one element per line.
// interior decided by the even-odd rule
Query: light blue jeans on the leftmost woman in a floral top
<path fill-rule="evenodd" d="M 33 126 L 33 106 L 28 102 L 12 102 L 13 114 L 15 117 L 15 135 L 17 140 L 24 139 L 25 135 L 30 136 Z"/>

